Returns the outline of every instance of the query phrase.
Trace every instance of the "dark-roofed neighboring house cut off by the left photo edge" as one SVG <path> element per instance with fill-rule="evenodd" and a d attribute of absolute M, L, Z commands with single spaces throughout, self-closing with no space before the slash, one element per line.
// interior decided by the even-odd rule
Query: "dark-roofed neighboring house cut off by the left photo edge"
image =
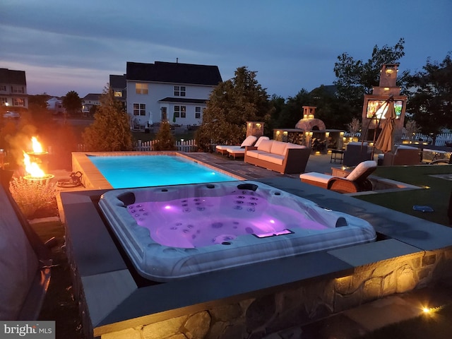
<path fill-rule="evenodd" d="M 28 109 L 25 71 L 0 69 L 0 105 Z"/>

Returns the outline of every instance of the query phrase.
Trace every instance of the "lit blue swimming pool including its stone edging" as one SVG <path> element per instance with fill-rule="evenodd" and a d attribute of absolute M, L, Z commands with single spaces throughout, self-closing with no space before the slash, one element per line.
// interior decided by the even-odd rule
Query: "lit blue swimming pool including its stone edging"
<path fill-rule="evenodd" d="M 244 178 L 195 161 L 182 153 L 73 153 L 73 172 L 82 173 L 86 188 L 123 189 Z"/>

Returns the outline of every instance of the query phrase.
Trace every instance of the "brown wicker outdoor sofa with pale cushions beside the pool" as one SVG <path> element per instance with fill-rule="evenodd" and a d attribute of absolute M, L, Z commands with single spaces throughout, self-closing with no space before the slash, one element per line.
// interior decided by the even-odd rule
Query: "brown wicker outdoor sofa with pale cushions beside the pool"
<path fill-rule="evenodd" d="M 244 162 L 282 174 L 302 173 L 306 169 L 311 149 L 304 145 L 263 140 L 245 148 Z"/>

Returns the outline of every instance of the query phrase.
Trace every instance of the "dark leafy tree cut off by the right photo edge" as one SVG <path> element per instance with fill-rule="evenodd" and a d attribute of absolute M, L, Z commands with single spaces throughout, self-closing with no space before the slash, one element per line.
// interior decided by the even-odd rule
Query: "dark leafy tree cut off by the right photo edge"
<path fill-rule="evenodd" d="M 449 52 L 440 63 L 427 59 L 422 71 L 410 76 L 407 112 L 424 134 L 436 136 L 441 129 L 452 128 L 451 55 Z"/>

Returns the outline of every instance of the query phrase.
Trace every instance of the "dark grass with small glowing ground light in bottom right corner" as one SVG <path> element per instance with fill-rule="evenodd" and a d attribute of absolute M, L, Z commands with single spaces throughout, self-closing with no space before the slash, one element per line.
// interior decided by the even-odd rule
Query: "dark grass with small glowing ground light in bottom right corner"
<path fill-rule="evenodd" d="M 361 339 L 448 339 L 452 333 L 452 305 L 429 314 L 393 323 L 363 335 Z"/>

